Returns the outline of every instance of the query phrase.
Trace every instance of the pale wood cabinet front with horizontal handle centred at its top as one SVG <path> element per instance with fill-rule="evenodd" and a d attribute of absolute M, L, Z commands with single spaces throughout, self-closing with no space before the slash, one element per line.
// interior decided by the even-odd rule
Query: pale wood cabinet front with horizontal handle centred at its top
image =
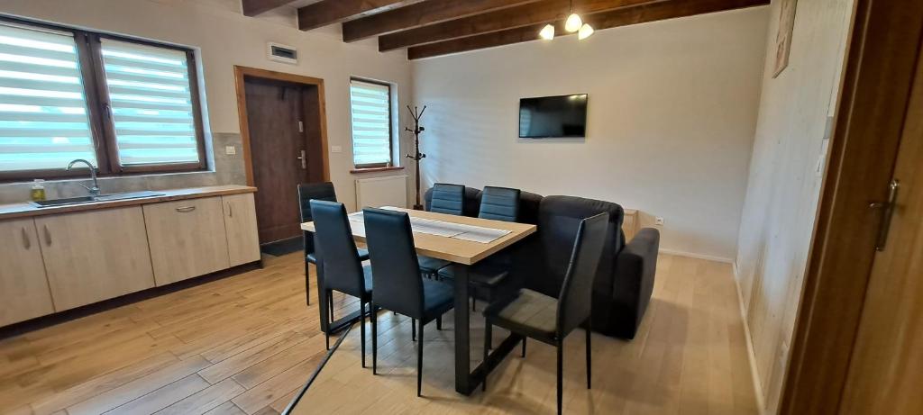
<path fill-rule="evenodd" d="M 222 197 L 144 205 L 158 286 L 230 267 Z"/>

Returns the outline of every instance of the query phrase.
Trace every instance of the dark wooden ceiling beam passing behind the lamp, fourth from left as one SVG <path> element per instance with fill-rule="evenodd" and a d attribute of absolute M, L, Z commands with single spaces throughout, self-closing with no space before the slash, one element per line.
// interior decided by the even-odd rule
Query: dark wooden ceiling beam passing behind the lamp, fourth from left
<path fill-rule="evenodd" d="M 657 0 L 574 0 L 573 9 L 581 16 L 625 6 L 653 3 Z M 567 18 L 570 0 L 542 0 L 528 5 L 509 7 L 493 13 L 459 18 L 444 23 L 380 36 L 378 50 L 385 52 L 418 44 L 473 36 L 497 30 L 509 30 Z"/>

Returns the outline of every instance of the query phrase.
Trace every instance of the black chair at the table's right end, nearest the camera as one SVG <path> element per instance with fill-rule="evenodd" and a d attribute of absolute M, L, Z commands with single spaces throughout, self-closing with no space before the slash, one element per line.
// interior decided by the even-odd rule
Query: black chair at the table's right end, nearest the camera
<path fill-rule="evenodd" d="M 485 311 L 484 358 L 491 343 L 493 326 L 534 338 L 557 348 L 557 413 L 561 413 L 563 395 L 563 351 L 564 338 L 578 326 L 586 330 L 586 387 L 591 388 L 593 354 L 590 346 L 591 303 L 593 300 L 593 277 L 599 258 L 603 253 L 605 232 L 609 214 L 600 213 L 581 220 L 573 251 L 570 254 L 568 271 L 564 277 L 557 299 L 545 294 L 523 289 L 519 296 L 510 302 L 495 302 Z M 523 338 L 523 355 L 525 353 Z M 482 387 L 486 390 L 485 375 Z"/>

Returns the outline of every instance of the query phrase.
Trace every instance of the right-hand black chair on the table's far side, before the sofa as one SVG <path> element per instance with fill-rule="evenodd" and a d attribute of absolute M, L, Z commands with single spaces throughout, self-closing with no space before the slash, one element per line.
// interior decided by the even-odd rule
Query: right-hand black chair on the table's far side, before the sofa
<path fill-rule="evenodd" d="M 519 219 L 519 189 L 509 187 L 486 186 L 481 193 L 481 210 L 477 217 L 481 219 L 515 222 Z M 476 299 L 492 302 L 500 286 L 507 281 L 512 267 L 512 251 L 507 250 L 487 257 L 468 269 L 468 279 L 473 287 L 472 310 L 476 310 Z M 438 271 L 439 278 L 454 279 L 454 267 L 444 267 Z"/>

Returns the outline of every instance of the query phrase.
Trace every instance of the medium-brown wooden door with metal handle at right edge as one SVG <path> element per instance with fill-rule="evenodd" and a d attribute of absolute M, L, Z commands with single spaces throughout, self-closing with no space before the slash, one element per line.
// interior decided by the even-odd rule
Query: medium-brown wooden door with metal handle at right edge
<path fill-rule="evenodd" d="M 890 232 L 875 255 L 841 405 L 844 414 L 921 414 L 923 62 L 905 117 Z"/>

